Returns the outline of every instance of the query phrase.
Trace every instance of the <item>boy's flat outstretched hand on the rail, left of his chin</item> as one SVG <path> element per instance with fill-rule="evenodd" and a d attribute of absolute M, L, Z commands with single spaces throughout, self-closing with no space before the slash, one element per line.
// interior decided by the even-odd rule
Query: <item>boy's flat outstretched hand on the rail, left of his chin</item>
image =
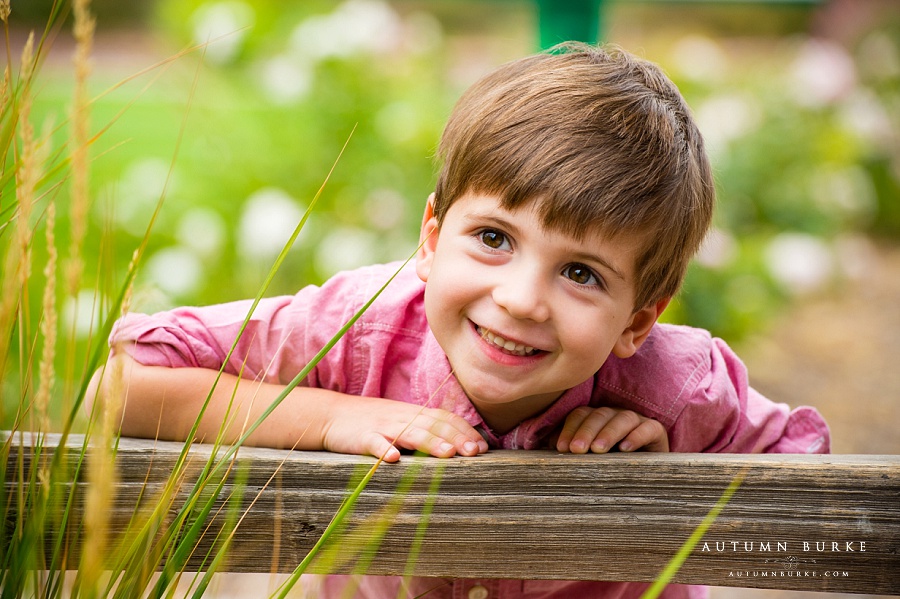
<path fill-rule="evenodd" d="M 343 396 L 322 431 L 324 449 L 400 459 L 398 447 L 439 458 L 475 456 L 488 450 L 482 436 L 460 416 L 389 399 Z M 392 444 L 393 443 L 393 444 Z"/>

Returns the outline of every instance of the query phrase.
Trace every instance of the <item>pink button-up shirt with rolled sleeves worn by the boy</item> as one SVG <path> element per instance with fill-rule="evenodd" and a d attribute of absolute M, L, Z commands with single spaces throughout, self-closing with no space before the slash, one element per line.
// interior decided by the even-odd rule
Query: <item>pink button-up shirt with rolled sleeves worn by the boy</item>
<path fill-rule="evenodd" d="M 264 299 L 226 370 L 237 374 L 243 367 L 247 378 L 290 382 L 398 268 L 394 263 L 339 273 L 321 287 Z M 455 412 L 479 429 L 494 448 L 540 447 L 575 408 L 608 405 L 661 422 L 673 452 L 829 451 L 828 427 L 816 410 L 791 410 L 769 401 L 749 387 L 746 368 L 723 341 L 706 331 L 665 324 L 656 325 L 631 358 L 610 356 L 593 378 L 568 390 L 546 411 L 506 434 L 494 434 L 451 376 L 447 357 L 425 319 L 424 290 L 415 271 L 405 268 L 304 384 Z M 152 316 L 129 314 L 117 323 L 110 342 L 133 342 L 126 345 L 127 351 L 145 365 L 218 369 L 250 305 L 241 301 Z M 345 580 L 328 577 L 323 590 L 333 590 Z M 430 589 L 436 580 L 444 582 L 416 580 L 414 590 Z M 465 596 L 464 589 L 477 582 L 449 581 L 427 596 Z M 392 578 L 364 577 L 357 596 L 393 597 L 397 584 Z M 535 599 L 637 597 L 646 586 L 560 581 L 481 584 L 495 591 L 491 597 Z M 699 587 L 671 585 L 665 596 L 703 594 Z"/>

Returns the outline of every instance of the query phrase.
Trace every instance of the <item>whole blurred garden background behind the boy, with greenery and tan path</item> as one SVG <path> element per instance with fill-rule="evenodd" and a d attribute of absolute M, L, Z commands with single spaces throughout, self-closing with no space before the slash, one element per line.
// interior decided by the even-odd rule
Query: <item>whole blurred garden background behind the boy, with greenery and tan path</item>
<path fill-rule="evenodd" d="M 818 407 L 835 452 L 900 453 L 900 2 L 598 4 L 601 38 L 679 85 L 716 173 L 715 230 L 665 318 L 732 343 L 769 397 Z M 53 7 L 12 0 L 2 50 L 11 81 L 28 33 L 41 37 Z M 97 0 L 91 11 L 96 139 L 84 274 L 55 290 L 66 340 L 54 358 L 59 421 L 161 198 L 131 310 L 254 296 L 339 155 L 268 294 L 405 259 L 454 101 L 541 43 L 529 0 Z M 79 218 L 60 166 L 74 53 L 64 7 L 30 90 L 46 151 L 33 276 L 10 329 L 19 340 L 0 360 L 2 429 L 21 425 L 23 388 L 38 378 L 22 365 L 41 345 L 42 293 L 56 276 L 41 274 L 48 247 L 62 264 Z M 0 181 L 2 257 L 14 245 L 14 182 Z M 59 208 L 48 245 L 50 202 Z"/>

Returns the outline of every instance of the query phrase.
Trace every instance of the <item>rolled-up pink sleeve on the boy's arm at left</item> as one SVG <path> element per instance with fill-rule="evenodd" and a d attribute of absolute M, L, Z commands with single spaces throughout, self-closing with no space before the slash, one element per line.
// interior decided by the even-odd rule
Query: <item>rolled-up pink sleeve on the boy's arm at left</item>
<path fill-rule="evenodd" d="M 115 324 L 109 343 L 113 352 L 124 351 L 146 366 L 218 370 L 224 364 L 230 374 L 286 384 L 352 316 L 357 294 L 351 277 L 338 276 L 293 296 L 262 299 L 249 319 L 250 300 L 131 313 Z M 304 384 L 342 389 L 350 336 L 328 352 Z"/>

